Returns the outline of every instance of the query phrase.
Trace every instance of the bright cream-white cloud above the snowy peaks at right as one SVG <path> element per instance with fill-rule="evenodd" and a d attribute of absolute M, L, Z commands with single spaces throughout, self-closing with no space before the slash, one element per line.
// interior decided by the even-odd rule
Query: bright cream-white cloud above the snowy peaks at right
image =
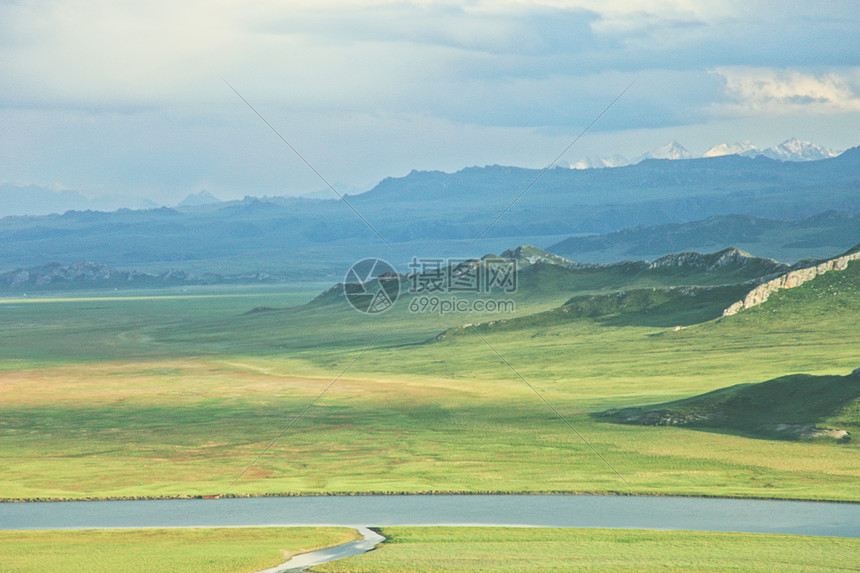
<path fill-rule="evenodd" d="M 714 106 L 728 115 L 837 114 L 860 111 L 860 68 L 827 73 L 767 68 L 718 68 L 729 101 Z"/>

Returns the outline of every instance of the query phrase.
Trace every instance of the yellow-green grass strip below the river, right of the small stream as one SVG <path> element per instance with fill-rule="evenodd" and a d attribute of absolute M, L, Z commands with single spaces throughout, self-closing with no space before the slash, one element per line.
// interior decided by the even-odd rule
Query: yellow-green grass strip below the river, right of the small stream
<path fill-rule="evenodd" d="M 860 540 L 687 531 L 386 527 L 374 551 L 326 573 L 857 571 Z"/>

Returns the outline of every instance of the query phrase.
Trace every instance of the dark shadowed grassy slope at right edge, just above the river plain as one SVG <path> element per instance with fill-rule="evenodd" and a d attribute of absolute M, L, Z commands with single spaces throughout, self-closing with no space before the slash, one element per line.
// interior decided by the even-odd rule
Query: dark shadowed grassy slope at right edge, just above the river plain
<path fill-rule="evenodd" d="M 602 416 L 628 424 L 690 426 L 777 439 L 820 437 L 848 442 L 860 430 L 860 375 L 795 374 L 665 404 L 609 410 Z"/>

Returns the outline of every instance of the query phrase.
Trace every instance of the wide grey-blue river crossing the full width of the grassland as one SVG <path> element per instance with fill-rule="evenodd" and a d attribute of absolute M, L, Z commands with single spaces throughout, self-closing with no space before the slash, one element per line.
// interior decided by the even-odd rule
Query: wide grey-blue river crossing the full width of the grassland
<path fill-rule="evenodd" d="M 0 529 L 490 525 L 860 537 L 860 504 L 607 495 L 391 495 L 0 503 Z"/>

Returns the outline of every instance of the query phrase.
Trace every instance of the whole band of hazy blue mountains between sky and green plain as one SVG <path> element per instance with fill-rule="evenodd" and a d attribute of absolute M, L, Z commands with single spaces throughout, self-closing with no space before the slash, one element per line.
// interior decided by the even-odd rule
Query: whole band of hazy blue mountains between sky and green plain
<path fill-rule="evenodd" d="M 539 174 L 502 166 L 413 172 L 386 179 L 349 202 L 390 244 L 471 239 L 484 231 L 487 238 L 608 232 L 730 213 L 792 219 L 822 209 L 860 211 L 860 150 L 854 148 L 806 163 L 726 156 L 655 159 L 617 169 L 550 169 L 489 227 Z M 5 218 L 0 241 L 7 245 L 0 251 L 0 269 L 7 270 L 98 260 L 125 267 L 193 262 L 195 272 L 231 272 L 224 265 L 252 261 L 242 270 L 292 270 L 302 276 L 322 268 L 322 250 L 346 248 L 346 259 L 353 251 L 384 247 L 343 202 L 284 197 Z M 334 260 L 330 254 L 325 260 Z"/>

